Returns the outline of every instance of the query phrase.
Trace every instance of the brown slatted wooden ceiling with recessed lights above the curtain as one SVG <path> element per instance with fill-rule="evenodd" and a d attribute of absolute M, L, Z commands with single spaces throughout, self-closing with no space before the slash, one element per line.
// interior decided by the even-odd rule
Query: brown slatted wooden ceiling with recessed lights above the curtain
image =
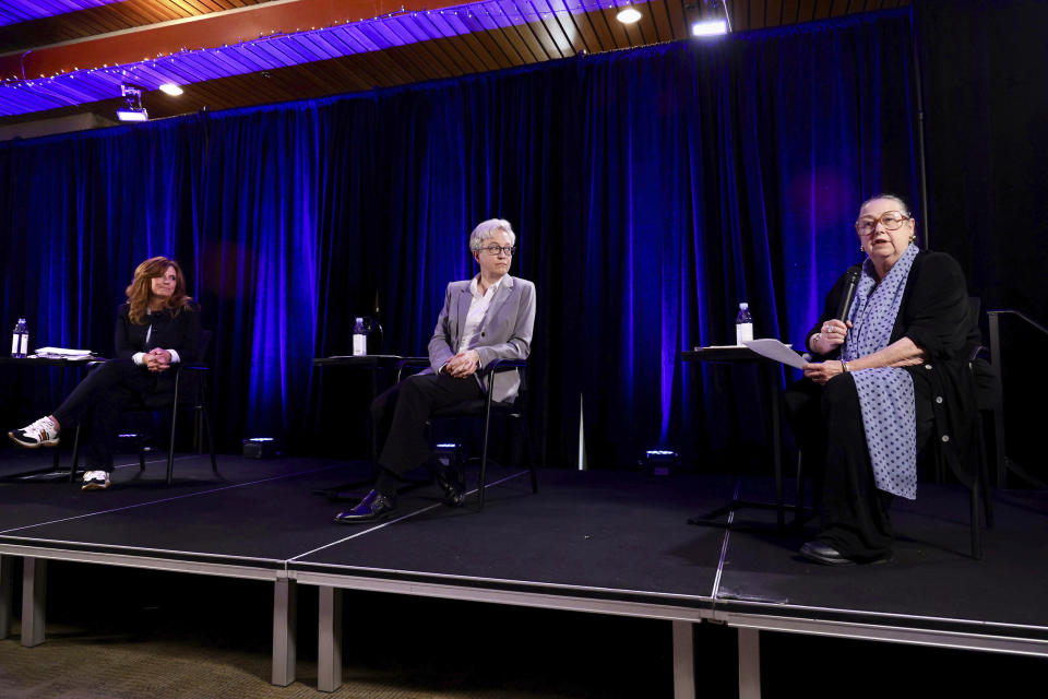
<path fill-rule="evenodd" d="M 0 27 L 0 50 L 4 46 L 9 50 L 16 45 L 44 46 L 174 19 L 251 8 L 267 1 L 124 0 Z M 908 0 L 728 0 L 727 8 L 733 29 L 745 32 L 905 4 L 908 4 Z M 563 11 L 555 12 L 564 7 L 558 0 L 516 0 L 515 7 L 532 13 L 529 16 L 535 16 L 535 20 L 509 24 L 496 22 L 493 14 L 487 14 L 492 12 L 489 5 L 495 7 L 490 2 L 476 5 L 473 10 L 463 11 L 465 16 L 462 17 L 419 12 L 413 15 L 414 22 L 407 22 L 407 15 L 404 14 L 401 16 L 405 21 L 397 20 L 389 26 L 361 25 L 359 31 L 318 34 L 307 37 L 298 46 L 264 42 L 250 45 L 250 50 L 240 52 L 206 52 L 199 61 L 172 66 L 171 70 L 186 79 L 186 92 L 181 97 L 147 92 L 143 102 L 151 117 L 162 118 L 201 109 L 219 110 L 454 78 L 571 57 L 582 51 L 597 54 L 682 39 L 689 35 L 692 21 L 712 11 L 710 3 L 704 0 L 652 0 L 638 5 L 643 14 L 641 22 L 623 25 L 616 20 L 618 8 L 567 14 Z M 484 14 L 478 8 L 483 9 Z M 245 12 L 260 10 L 248 9 Z M 461 34 L 466 31 L 463 27 L 474 31 Z M 396 38 L 397 42 L 413 43 L 312 60 L 348 50 L 362 50 L 369 43 L 373 45 L 378 40 L 377 32 L 383 32 L 381 36 L 388 42 Z M 13 38 L 16 36 L 21 38 Z M 427 38 L 430 36 L 442 38 Z M 353 43 L 356 45 L 350 46 Z M 308 62 L 265 69 L 259 61 L 274 51 L 285 58 Z M 216 71 L 209 73 L 207 61 L 212 61 L 211 66 L 225 63 L 237 66 L 239 71 L 251 72 L 194 82 L 201 75 L 219 74 Z M 118 91 L 119 85 L 116 84 L 114 90 Z M 78 107 L 0 118 L 0 125 L 80 111 L 96 111 L 111 117 L 121 104 L 114 96 Z"/>

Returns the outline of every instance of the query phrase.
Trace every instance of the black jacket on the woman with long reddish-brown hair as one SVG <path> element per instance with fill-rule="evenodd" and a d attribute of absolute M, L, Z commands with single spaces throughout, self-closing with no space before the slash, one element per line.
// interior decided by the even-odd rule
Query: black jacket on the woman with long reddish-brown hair
<path fill-rule="evenodd" d="M 117 327 L 112 333 L 114 356 L 130 359 L 138 352 L 155 347 L 174 350 L 183 364 L 200 362 L 200 307 L 191 304 L 177 315 L 169 310 L 146 313 L 142 324 L 131 322 L 131 305 L 117 309 Z M 150 327 L 150 342 L 145 335 Z"/>

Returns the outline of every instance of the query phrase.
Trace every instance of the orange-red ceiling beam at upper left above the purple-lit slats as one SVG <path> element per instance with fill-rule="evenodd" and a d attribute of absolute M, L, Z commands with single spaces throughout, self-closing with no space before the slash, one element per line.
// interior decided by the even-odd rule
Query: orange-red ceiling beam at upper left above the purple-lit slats
<path fill-rule="evenodd" d="M 218 48 L 269 34 L 314 28 L 404 12 L 441 10 L 455 0 L 278 0 L 0 56 L 0 79 L 34 80 L 60 72 L 122 66 L 182 49 Z"/>

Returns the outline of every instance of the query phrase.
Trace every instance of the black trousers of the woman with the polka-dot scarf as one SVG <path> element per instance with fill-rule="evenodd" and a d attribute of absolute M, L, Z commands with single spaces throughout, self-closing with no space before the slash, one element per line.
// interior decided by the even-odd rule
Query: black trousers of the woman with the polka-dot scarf
<path fill-rule="evenodd" d="M 934 426 L 927 382 L 914 381 L 914 399 L 919 451 Z M 819 541 L 858 561 L 890 553 L 892 495 L 873 482 L 855 379 L 842 374 L 824 387 L 802 379 L 786 389 L 784 403 L 803 463 L 811 470 L 815 501 L 821 502 Z"/>

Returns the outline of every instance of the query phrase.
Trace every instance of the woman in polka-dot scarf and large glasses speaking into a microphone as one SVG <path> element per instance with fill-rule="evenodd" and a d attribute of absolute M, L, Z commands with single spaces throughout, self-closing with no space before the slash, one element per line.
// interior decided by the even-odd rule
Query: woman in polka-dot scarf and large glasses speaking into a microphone
<path fill-rule="evenodd" d="M 821 564 L 891 558 L 888 507 L 916 498 L 917 452 L 933 434 L 962 481 L 976 474 L 967 360 L 978 329 L 960 265 L 919 249 L 915 228 L 898 197 L 862 203 L 855 230 L 866 260 L 826 296 L 805 342 L 814 362 L 786 392 L 822 496 L 820 532 L 800 553 Z"/>

